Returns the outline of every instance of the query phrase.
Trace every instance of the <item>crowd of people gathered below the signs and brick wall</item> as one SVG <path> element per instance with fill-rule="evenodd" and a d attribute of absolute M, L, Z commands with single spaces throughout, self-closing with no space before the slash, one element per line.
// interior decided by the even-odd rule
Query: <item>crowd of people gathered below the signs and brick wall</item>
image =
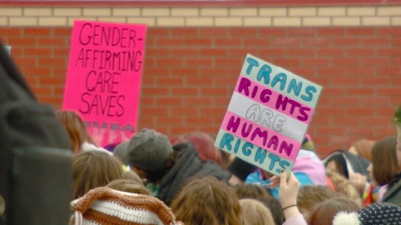
<path fill-rule="evenodd" d="M 359 140 L 320 159 L 306 135 L 287 177 L 214 147 L 214 136 L 153 129 L 95 145 L 78 114 L 57 112 L 74 152 L 71 222 L 92 224 L 401 224 L 397 137 Z"/>

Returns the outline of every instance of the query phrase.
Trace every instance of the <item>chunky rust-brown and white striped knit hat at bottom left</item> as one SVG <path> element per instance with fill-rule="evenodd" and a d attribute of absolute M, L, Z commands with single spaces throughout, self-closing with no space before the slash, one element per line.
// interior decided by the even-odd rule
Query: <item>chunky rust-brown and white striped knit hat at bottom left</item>
<path fill-rule="evenodd" d="M 71 201 L 71 224 L 154 224 L 178 225 L 165 203 L 155 197 L 116 191 L 110 188 L 90 190 Z"/>

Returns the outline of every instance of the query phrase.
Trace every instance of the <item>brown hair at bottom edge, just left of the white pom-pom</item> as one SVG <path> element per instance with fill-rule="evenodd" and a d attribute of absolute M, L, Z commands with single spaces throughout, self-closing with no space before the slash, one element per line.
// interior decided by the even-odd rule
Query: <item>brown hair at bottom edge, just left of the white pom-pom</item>
<path fill-rule="evenodd" d="M 332 225 L 338 212 L 356 212 L 360 207 L 348 198 L 325 200 L 312 207 L 308 214 L 308 225 Z"/>

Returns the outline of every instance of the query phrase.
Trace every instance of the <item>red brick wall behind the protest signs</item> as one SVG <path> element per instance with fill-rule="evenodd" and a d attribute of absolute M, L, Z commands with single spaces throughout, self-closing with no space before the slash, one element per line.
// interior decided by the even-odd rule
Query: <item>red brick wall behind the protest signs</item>
<path fill-rule="evenodd" d="M 60 109 L 70 28 L 0 28 L 39 99 Z M 311 133 L 319 154 L 394 135 L 401 28 L 149 28 L 139 128 L 216 133 L 246 53 L 324 87 Z"/>

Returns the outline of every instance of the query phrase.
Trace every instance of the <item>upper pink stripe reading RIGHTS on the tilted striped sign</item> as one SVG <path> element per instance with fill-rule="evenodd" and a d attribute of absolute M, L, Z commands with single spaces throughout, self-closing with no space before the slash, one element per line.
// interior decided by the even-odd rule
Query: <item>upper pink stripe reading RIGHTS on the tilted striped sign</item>
<path fill-rule="evenodd" d="M 279 92 L 268 89 L 267 87 L 246 78 L 245 76 L 240 75 L 238 81 L 236 82 L 234 91 L 256 101 L 257 103 L 274 109 L 277 112 L 304 122 L 305 124 L 309 124 L 309 122 L 311 122 L 314 109 L 303 105 L 294 99 L 288 98 Z M 266 96 L 266 98 L 264 96 Z M 279 99 L 281 99 L 281 104 L 278 105 L 277 103 Z M 276 108 L 276 105 L 278 105 L 278 108 Z M 293 107 L 293 105 L 294 108 L 291 112 L 291 107 Z M 284 110 L 283 106 L 285 106 Z"/>

